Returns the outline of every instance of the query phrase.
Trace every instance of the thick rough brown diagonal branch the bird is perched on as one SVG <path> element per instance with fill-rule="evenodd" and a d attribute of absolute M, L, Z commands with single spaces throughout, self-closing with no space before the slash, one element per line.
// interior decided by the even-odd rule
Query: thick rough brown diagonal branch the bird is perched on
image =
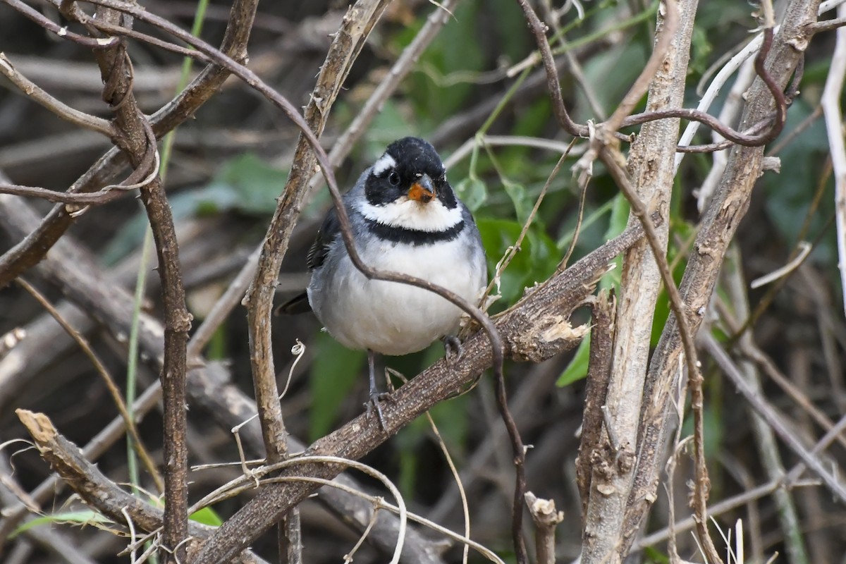
<path fill-rule="evenodd" d="M 497 318 L 497 331 L 503 337 L 509 357 L 540 362 L 574 347 L 586 327 L 573 327 L 569 315 L 584 303 L 596 281 L 607 271 L 614 256 L 629 248 L 642 236 L 635 225 L 566 271 L 528 293 L 519 304 Z M 393 394 L 393 401 L 383 406 L 387 432 L 361 415 L 331 435 L 310 446 L 309 454 L 323 454 L 357 459 L 386 441 L 399 428 L 414 420 L 437 402 L 458 393 L 492 365 L 490 342 L 483 331 L 464 343 L 464 354 L 452 364 L 440 361 L 415 376 Z M 327 466 L 300 468 L 300 472 L 319 478 L 332 478 L 339 468 Z M 272 523 L 305 499 L 316 486 L 305 484 L 271 485 L 258 494 L 206 543 L 197 562 L 212 562 L 237 554 L 242 546 L 257 539 Z"/>

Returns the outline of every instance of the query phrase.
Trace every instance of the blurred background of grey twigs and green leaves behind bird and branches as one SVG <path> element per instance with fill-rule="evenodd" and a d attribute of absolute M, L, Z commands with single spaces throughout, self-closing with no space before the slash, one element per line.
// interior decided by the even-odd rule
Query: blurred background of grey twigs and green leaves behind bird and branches
<path fill-rule="evenodd" d="M 190 29 L 193 3 L 141 3 Z M 555 4 L 553 8 L 562 8 Z M 744 45 L 750 39 L 750 30 L 758 25 L 749 3 L 708 0 L 700 4 L 685 107 L 695 107 L 714 69 Z M 261 3 L 250 40 L 250 68 L 295 105 L 305 104 L 330 41 L 328 34 L 337 28 L 346 6 L 323 0 Z M 640 74 L 651 52 L 657 3 L 582 0 L 581 8 L 583 14 L 575 7 L 560 10 L 559 33 L 552 47 L 564 68 L 569 68 L 562 74 L 565 101 L 574 118 L 584 123 L 610 115 Z M 332 147 L 333 140 L 356 116 L 433 9 L 437 8 L 424 0 L 397 0 L 391 5 L 338 98 L 323 135 L 324 146 Z M 202 33 L 206 41 L 219 43 L 227 13 L 227 3 L 211 3 Z M 143 25 L 139 28 L 145 29 Z M 351 186 L 390 141 L 408 134 L 431 140 L 449 162 L 448 178 L 453 187 L 475 214 L 493 271 L 508 246 L 514 244 L 569 143 L 552 115 L 542 69 L 536 64 L 521 64 L 532 56 L 533 47 L 525 19 L 513 0 L 459 2 L 453 18 L 398 91 L 384 103 L 338 169 L 341 185 Z M 832 48 L 833 34 L 816 37 L 810 47 L 801 94 L 790 108 L 782 137 L 768 149 L 769 154 L 782 159 L 781 172 L 766 172 L 761 178 L 734 246 L 738 266 L 744 278 L 751 280 L 783 266 L 800 240 L 814 245 L 805 264 L 777 291 L 765 286 L 750 290 L 748 297 L 753 310 L 761 306 L 754 323 L 757 346 L 817 408 L 837 420 L 846 409 L 842 369 L 846 326 L 836 268 L 831 160 L 819 111 Z M 56 41 L 6 6 L 0 8 L 0 50 L 21 72 L 70 106 L 104 111 L 102 85 L 91 53 L 67 41 Z M 153 112 L 173 96 L 181 60 L 173 53 L 138 42 L 131 42 L 130 53 L 135 64 L 136 95 L 142 107 Z M 572 57 L 575 67 L 566 62 L 565 54 Z M 580 81 L 572 78 L 573 68 L 582 75 Z M 14 86 L 4 86 L 0 90 L 0 170 L 15 183 L 66 189 L 107 149 L 106 140 L 73 129 L 20 96 Z M 727 92 L 728 88 L 723 89 L 721 96 Z M 722 98 L 711 113 L 716 114 L 721 105 Z M 234 79 L 197 112 L 194 120 L 179 128 L 167 189 L 178 220 L 195 326 L 261 242 L 288 175 L 295 135 L 294 128 L 276 109 Z M 535 146 L 527 145 L 530 140 L 537 141 L 531 143 Z M 710 142 L 710 132 L 700 129 L 696 141 Z M 569 249 L 580 206 L 580 190 L 569 167 L 584 150 L 581 145 L 583 142 L 575 145 L 574 156 L 568 157 L 562 172 L 552 180 L 525 243 L 503 276 L 502 298 L 494 310 L 514 304 L 525 287 L 545 280 Z M 668 255 L 677 280 L 684 271 L 698 222 L 695 194 L 711 166 L 710 155 L 689 155 L 678 172 Z M 43 202 L 34 203 L 48 209 Z M 280 274 L 278 301 L 305 287 L 305 254 L 328 205 L 327 191 L 321 187 L 294 230 Z M 619 233 L 628 219 L 627 204 L 599 163 L 585 194 L 583 216 L 571 264 Z M 120 283 L 132 287 L 145 225 L 140 204 L 124 199 L 80 217 L 71 235 L 94 250 L 104 266 L 124 272 Z M 0 230 L 0 250 L 14 243 Z M 616 282 L 611 273 L 603 284 L 613 286 Z M 147 286 L 145 307 L 156 311 L 157 280 L 151 279 Z M 40 287 L 54 303 L 60 301 L 58 290 L 44 284 Z M 723 292 L 723 287 L 717 288 L 717 293 Z M 653 344 L 660 336 L 667 311 L 667 299 L 659 298 Z M 0 292 L 0 334 L 43 315 L 38 304 L 18 287 Z M 585 315 L 582 321 L 586 319 Z M 290 349 L 295 340 L 306 347 L 304 360 L 294 370 L 283 399 L 288 430 L 304 441 L 312 441 L 360 413 L 367 386 L 364 353 L 334 342 L 320 331 L 313 316 L 279 317 L 274 322 L 276 366 L 282 379 L 293 360 Z M 728 344 L 730 331 L 719 324 L 704 330 L 716 331 Z M 125 351 L 115 338 L 96 329 L 89 337 L 113 374 L 124 373 Z M 206 356 L 226 361 L 233 381 L 251 396 L 248 353 L 244 310 L 236 309 L 217 332 Z M 116 414 L 102 382 L 79 350 L 63 345 L 44 354 L 44 365 L 29 375 L 27 384 L 14 396 L 0 394 L 0 442 L 24 436 L 14 408 L 48 413 L 78 444 L 88 441 Z M 440 356 L 442 345 L 436 343 L 422 353 L 383 362 L 411 377 Z M 506 369 L 514 415 L 524 441 L 534 445 L 528 458 L 530 489 L 538 496 L 554 499 L 566 512 L 563 526 L 558 528 L 560 561 L 570 561 L 580 553 L 574 457 L 586 361 L 586 349 L 580 349 L 544 364 L 509 364 Z M 749 490 L 766 478 L 751 448 L 753 435 L 744 404 L 714 367 L 706 364 L 705 370 L 711 500 L 719 501 Z M 152 378 L 154 375 L 142 369 L 140 386 L 148 385 Z M 783 409 L 798 432 L 810 434 L 812 427 L 805 409 L 772 383 L 765 382 L 764 387 L 765 394 Z M 462 473 L 470 498 L 474 538 L 508 560 L 511 457 L 496 415 L 492 381 L 483 378 L 471 392 L 438 405 L 432 416 Z M 228 430 L 218 429 L 201 412 L 191 411 L 189 418 L 191 463 L 237 460 Z M 156 452 L 161 435 L 157 418 L 146 418 L 141 431 Z M 785 457 L 790 460 L 788 453 Z M 832 457 L 842 461 L 843 450 Z M 387 472 L 415 512 L 456 530 L 462 527 L 456 487 L 425 419 L 400 431 L 365 462 Z M 14 464 L 15 476 L 25 488 L 35 487 L 48 472 L 31 452 L 16 456 Z M 124 446 L 113 447 L 99 464 L 113 479 L 127 479 Z M 217 485 L 222 477 L 235 474 L 236 469 L 228 468 L 195 473 L 192 499 Z M 677 475 L 681 476 L 678 483 L 668 487 L 678 489 L 677 514 L 686 515 L 685 474 L 680 471 Z M 843 507 L 833 505 L 823 490 L 801 490 L 796 496 L 811 561 L 839 561 L 846 550 Z M 63 500 L 58 496 L 57 509 Z M 227 501 L 215 509 L 226 517 L 242 502 Z M 659 491 L 649 530 L 666 525 L 666 506 L 667 497 Z M 355 535 L 314 501 L 305 503 L 303 511 L 306 561 L 338 561 L 354 543 Z M 747 539 L 753 544 L 754 557 L 774 550 L 783 552 L 784 532 L 771 501 L 764 498 L 751 502 L 718 515 L 717 521 L 727 529 L 740 517 L 749 523 Z M 110 534 L 91 527 L 60 530 L 85 547 L 95 561 L 127 561 L 112 556 L 123 541 Z M 6 542 L 14 545 L 19 539 Z M 679 543 L 682 556 L 696 557 L 695 545 L 687 534 L 681 535 Z M 272 545 L 271 541 L 255 549 L 272 555 Z M 458 550 L 448 552 L 448 561 L 457 561 L 457 555 Z M 645 561 L 666 561 L 665 555 L 663 543 L 641 553 Z M 56 561 L 56 556 L 39 548 L 28 557 L 26 561 Z M 383 559 L 368 549 L 356 556 L 356 561 Z"/>

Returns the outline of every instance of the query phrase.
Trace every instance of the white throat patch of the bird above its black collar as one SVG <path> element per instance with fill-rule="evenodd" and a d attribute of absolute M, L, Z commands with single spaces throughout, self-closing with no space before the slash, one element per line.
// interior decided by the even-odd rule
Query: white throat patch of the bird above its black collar
<path fill-rule="evenodd" d="M 389 227 L 403 227 L 429 233 L 446 231 L 458 225 L 463 219 L 460 205 L 450 210 L 437 198 L 424 204 L 403 196 L 385 205 L 372 205 L 363 198 L 356 207 L 362 216 L 374 222 Z"/>

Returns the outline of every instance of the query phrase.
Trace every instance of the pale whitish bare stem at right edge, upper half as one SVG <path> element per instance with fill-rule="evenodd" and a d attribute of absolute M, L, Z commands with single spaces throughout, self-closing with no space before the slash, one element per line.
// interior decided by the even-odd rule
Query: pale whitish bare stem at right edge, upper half
<path fill-rule="evenodd" d="M 838 17 L 846 17 L 846 7 L 838 7 Z M 834 166 L 834 216 L 838 231 L 838 268 L 843 288 L 843 307 L 846 311 L 846 145 L 843 142 L 843 115 L 840 96 L 843 77 L 846 75 L 846 29 L 837 31 L 831 68 L 828 70 L 825 89 L 820 101 L 828 131 L 828 146 Z"/>

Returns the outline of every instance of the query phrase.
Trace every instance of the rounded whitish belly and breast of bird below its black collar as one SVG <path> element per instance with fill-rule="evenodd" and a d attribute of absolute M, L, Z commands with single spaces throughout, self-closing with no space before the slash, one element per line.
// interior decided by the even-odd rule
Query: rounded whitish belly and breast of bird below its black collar
<path fill-rule="evenodd" d="M 415 248 L 382 243 L 369 248 L 363 259 L 379 270 L 433 282 L 475 304 L 486 283 L 486 267 L 481 254 L 478 260 L 465 258 L 464 241 Z M 310 293 L 313 289 L 309 287 Z M 458 306 L 428 290 L 367 280 L 346 254 L 334 276 L 323 281 L 321 293 L 315 311 L 332 337 L 349 348 L 388 355 L 415 353 L 453 334 L 462 314 Z"/>

